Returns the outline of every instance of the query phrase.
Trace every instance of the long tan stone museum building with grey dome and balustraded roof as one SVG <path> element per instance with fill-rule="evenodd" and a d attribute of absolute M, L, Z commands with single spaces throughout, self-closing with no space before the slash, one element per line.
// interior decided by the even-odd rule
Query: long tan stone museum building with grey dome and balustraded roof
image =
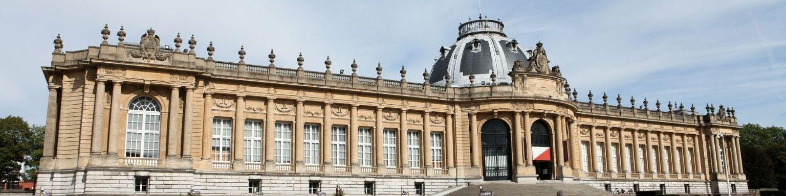
<path fill-rule="evenodd" d="M 522 46 L 503 27 L 461 24 L 424 82 L 406 81 L 405 67 L 382 78 L 380 64 L 360 76 L 354 61 L 334 73 L 329 58 L 307 71 L 303 55 L 273 50 L 246 63 L 242 46 L 239 60 L 219 61 L 212 42 L 198 57 L 193 35 L 188 49 L 180 34 L 170 47 L 152 28 L 124 42 L 120 27 L 110 44 L 105 26 L 101 45 L 65 52 L 58 34 L 42 67 L 36 191 L 417 195 L 507 180 L 747 192 L 733 108 L 579 100 L 542 43 Z"/>

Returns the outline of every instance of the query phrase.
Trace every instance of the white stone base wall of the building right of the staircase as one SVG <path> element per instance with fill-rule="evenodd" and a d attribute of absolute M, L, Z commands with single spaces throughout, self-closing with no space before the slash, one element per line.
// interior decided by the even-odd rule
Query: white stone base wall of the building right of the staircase
<path fill-rule="evenodd" d="M 581 183 L 605 190 L 607 184 L 611 186 L 612 191 L 635 190 L 638 186 L 638 191 L 659 191 L 663 185 L 664 194 L 726 194 L 729 193 L 729 187 L 734 187 L 732 193 L 747 193 L 747 181 L 732 181 L 726 183 L 725 181 L 703 181 L 703 180 L 580 180 Z M 685 185 L 688 185 L 687 187 Z M 729 186 L 733 184 L 734 186 Z"/>

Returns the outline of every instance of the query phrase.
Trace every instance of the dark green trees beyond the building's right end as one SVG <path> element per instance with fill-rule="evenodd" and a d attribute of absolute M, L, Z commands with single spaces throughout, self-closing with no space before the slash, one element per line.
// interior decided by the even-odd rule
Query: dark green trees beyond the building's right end
<path fill-rule="evenodd" d="M 740 148 L 748 187 L 786 189 L 786 129 L 746 124 Z"/>

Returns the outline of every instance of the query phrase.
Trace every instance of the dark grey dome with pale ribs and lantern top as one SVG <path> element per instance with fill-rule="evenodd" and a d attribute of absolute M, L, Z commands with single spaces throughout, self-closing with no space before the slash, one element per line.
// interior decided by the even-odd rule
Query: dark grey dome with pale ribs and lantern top
<path fill-rule="evenodd" d="M 475 85 L 491 82 L 494 72 L 497 83 L 510 83 L 508 72 L 516 60 L 527 61 L 530 54 L 521 49 L 516 39 L 508 38 L 502 31 L 505 27 L 498 20 L 480 18 L 461 24 L 458 38 L 450 47 L 442 46 L 435 59 L 431 77 L 432 85 L 445 85 L 445 76 L 450 76 L 450 85 L 468 86 L 469 76 L 475 76 Z"/>

